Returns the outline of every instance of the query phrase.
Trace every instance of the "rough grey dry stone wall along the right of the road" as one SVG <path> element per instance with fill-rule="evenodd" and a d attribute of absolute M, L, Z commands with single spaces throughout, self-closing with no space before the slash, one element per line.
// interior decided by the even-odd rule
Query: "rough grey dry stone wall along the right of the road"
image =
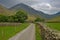
<path fill-rule="evenodd" d="M 43 40 L 60 40 L 60 32 L 48 28 L 42 23 L 38 23 Z"/>

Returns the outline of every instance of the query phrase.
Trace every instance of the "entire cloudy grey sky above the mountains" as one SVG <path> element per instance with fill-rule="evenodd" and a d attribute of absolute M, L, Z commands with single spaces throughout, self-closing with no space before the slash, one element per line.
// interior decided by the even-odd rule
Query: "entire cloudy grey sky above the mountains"
<path fill-rule="evenodd" d="M 60 11 L 60 0 L 0 0 L 0 4 L 7 8 L 19 3 L 29 5 L 35 10 L 43 11 L 49 15 L 56 14 Z"/>

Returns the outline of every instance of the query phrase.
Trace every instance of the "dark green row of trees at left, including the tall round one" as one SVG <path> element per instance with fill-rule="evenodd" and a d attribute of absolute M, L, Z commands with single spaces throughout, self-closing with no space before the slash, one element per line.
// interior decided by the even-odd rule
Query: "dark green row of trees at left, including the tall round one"
<path fill-rule="evenodd" d="M 16 12 L 15 15 L 11 16 L 5 16 L 5 15 L 0 15 L 0 22 L 25 22 L 25 20 L 28 18 L 27 14 L 22 11 Z"/>

